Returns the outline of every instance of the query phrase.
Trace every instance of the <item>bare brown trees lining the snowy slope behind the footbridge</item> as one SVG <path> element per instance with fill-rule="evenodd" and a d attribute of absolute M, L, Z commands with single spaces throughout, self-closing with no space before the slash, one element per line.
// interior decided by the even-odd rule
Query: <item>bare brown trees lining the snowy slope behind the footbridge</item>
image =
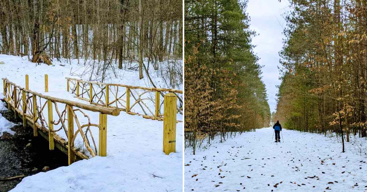
<path fill-rule="evenodd" d="M 162 61 L 182 59 L 182 1 L 1 0 L 0 53 L 48 65 L 92 59 L 102 81 L 113 64 L 142 79 Z"/>

